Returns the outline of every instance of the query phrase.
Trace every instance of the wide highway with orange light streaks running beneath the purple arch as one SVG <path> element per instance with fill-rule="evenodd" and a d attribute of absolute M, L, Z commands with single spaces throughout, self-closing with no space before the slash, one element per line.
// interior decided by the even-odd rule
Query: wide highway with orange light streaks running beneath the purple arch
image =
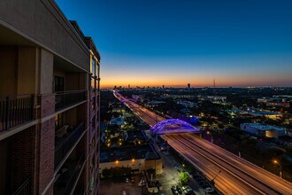
<path fill-rule="evenodd" d="M 117 91 L 114 91 L 114 95 L 150 127 L 165 120 L 141 105 L 123 98 Z M 209 180 L 221 171 L 214 182 L 215 187 L 223 194 L 292 194 L 292 183 L 199 136 L 185 133 L 162 137 Z"/>

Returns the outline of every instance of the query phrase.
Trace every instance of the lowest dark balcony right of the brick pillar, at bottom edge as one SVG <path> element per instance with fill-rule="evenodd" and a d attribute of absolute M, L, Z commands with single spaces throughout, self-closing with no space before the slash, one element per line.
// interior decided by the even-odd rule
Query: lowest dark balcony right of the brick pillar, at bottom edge
<path fill-rule="evenodd" d="M 74 185 L 81 175 L 84 167 L 85 155 L 82 154 L 78 160 L 66 160 L 64 166 L 56 175 L 54 184 L 54 194 L 72 194 Z"/>

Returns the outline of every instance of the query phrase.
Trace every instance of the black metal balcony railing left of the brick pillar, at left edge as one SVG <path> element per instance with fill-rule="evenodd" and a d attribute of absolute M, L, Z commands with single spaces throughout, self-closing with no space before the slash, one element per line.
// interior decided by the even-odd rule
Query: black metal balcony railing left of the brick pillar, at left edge
<path fill-rule="evenodd" d="M 0 100 L 0 131 L 11 129 L 27 121 L 32 121 L 33 113 L 33 95 L 19 95 Z"/>

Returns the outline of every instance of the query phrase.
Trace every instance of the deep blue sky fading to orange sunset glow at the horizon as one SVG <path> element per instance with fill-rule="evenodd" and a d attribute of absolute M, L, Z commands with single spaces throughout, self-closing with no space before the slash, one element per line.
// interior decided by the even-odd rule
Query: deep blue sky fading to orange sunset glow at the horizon
<path fill-rule="evenodd" d="M 102 56 L 102 87 L 292 86 L 292 1 L 58 0 Z"/>

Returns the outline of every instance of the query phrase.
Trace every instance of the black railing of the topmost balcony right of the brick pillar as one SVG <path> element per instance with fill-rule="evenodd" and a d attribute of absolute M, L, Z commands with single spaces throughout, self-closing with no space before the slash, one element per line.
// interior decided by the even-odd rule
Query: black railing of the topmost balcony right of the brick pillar
<path fill-rule="evenodd" d="M 63 91 L 56 93 L 56 111 L 86 100 L 86 91 Z"/>

